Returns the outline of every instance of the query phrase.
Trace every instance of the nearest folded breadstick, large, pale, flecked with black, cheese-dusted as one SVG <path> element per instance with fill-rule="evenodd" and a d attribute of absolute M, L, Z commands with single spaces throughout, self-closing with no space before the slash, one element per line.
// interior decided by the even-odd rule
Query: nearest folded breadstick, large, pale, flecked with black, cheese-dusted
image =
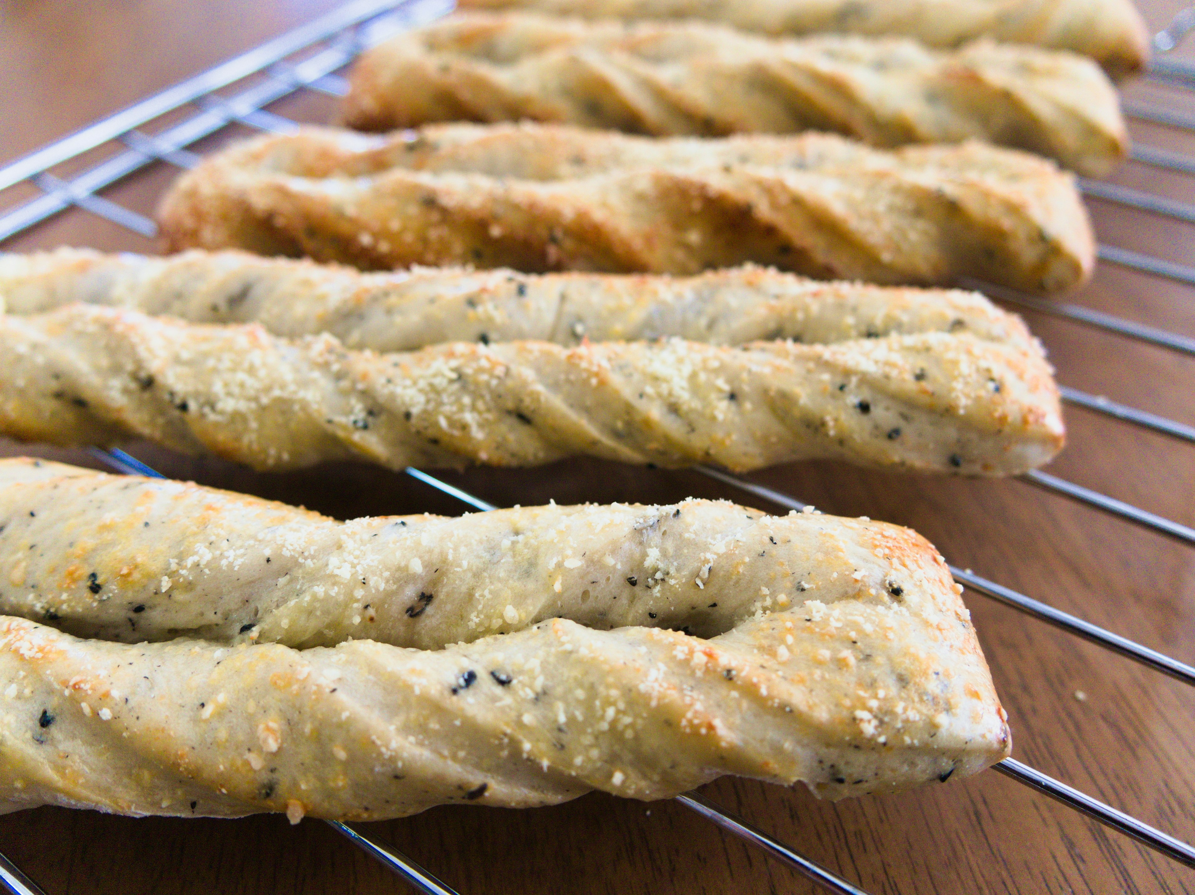
<path fill-rule="evenodd" d="M 54 464 L 0 462 L 0 482 L 5 516 L 19 520 L 2 535 L 0 587 L 67 589 L 80 613 L 72 624 L 124 613 L 149 627 L 158 612 L 186 614 L 184 600 L 196 619 L 239 600 L 264 609 L 289 588 L 306 603 L 296 620 L 327 602 L 342 618 L 376 607 L 409 624 L 369 627 L 428 644 L 232 645 L 225 625 L 204 629 L 222 640 L 130 645 L 0 617 L 7 809 L 374 820 L 594 789 L 667 798 L 727 773 L 839 798 L 974 773 L 1009 754 L 958 588 L 933 547 L 896 526 L 706 501 L 338 523 Z M 449 537 L 455 552 L 422 534 Z M 455 565 L 437 580 L 431 562 Z M 17 566 L 22 588 L 4 583 Z M 641 568 L 656 590 L 620 580 Z M 301 583 L 275 587 L 283 569 Z M 160 571 L 168 589 L 153 580 Z M 349 596 L 358 576 L 367 583 Z M 508 590 L 529 614 L 511 606 L 505 636 L 473 639 L 471 618 L 496 605 L 465 582 Z M 400 612 L 425 586 L 447 589 Z M 615 596 L 631 608 L 615 609 Z M 534 621 L 537 603 L 559 617 Z M 602 619 L 595 603 L 613 614 Z M 660 617 L 637 624 L 649 603 Z M 663 629 L 686 618 L 709 636 Z M 287 639 L 281 624 L 274 631 Z"/>

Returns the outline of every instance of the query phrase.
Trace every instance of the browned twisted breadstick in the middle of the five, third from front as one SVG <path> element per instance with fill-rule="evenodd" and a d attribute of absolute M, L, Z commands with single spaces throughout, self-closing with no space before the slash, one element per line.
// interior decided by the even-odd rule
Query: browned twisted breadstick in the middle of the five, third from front
<path fill-rule="evenodd" d="M 253 140 L 166 196 L 173 249 L 241 247 L 364 268 L 695 274 L 744 262 L 819 277 L 1054 292 L 1095 246 L 1072 178 L 978 143 L 650 140 L 562 127 L 335 130 Z"/>

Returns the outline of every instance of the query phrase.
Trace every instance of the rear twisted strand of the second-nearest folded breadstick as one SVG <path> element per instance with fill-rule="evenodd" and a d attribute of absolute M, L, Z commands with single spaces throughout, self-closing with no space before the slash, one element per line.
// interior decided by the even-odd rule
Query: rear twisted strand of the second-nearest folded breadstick
<path fill-rule="evenodd" d="M 362 274 L 244 252 L 0 255 L 0 312 L 35 314 L 76 301 L 192 323 L 261 323 L 286 337 L 330 332 L 347 348 L 375 351 L 669 336 L 716 345 L 829 343 L 938 331 L 1032 342 L 1021 318 L 979 293 L 823 283 L 761 268 L 685 278 L 430 268 Z"/>

